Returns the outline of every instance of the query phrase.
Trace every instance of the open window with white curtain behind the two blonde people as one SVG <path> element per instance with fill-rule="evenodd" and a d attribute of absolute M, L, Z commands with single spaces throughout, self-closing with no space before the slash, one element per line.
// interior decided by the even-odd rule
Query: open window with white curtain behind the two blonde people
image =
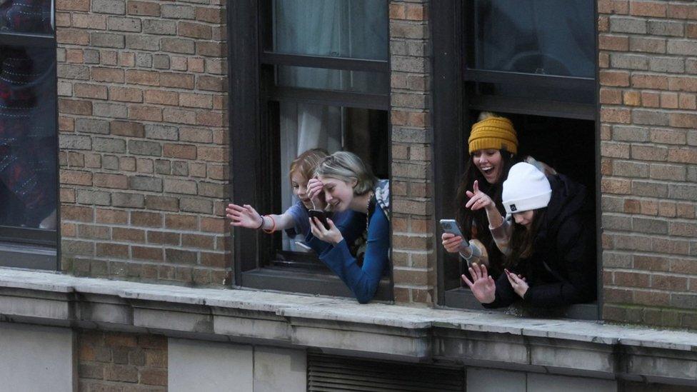
<path fill-rule="evenodd" d="M 259 0 L 230 7 L 233 200 L 280 213 L 291 161 L 353 151 L 389 178 L 388 9 L 374 0 Z M 301 238 L 235 232 L 240 286 L 351 296 Z M 383 279 L 376 299 L 391 299 Z"/>

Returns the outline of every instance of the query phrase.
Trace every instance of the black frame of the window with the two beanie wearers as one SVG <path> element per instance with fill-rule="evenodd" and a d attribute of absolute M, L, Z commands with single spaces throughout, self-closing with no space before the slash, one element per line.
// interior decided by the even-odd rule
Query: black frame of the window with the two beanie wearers
<path fill-rule="evenodd" d="M 465 4 L 463 4 L 465 3 Z M 595 78 L 570 76 L 549 76 L 522 74 L 507 71 L 486 71 L 468 68 L 468 49 L 466 34 L 471 24 L 471 1 L 443 0 L 431 3 L 431 24 L 433 33 L 433 184 L 434 218 L 452 218 L 454 186 L 453 179 L 459 181 L 468 159 L 466 151 L 466 124 L 472 124 L 471 110 L 495 111 L 511 114 L 558 117 L 566 119 L 592 120 L 595 124 L 595 164 L 596 176 L 596 303 L 583 303 L 566 308 L 559 316 L 580 319 L 601 319 L 602 309 L 602 243 L 601 243 L 601 162 L 600 162 L 600 104 L 598 81 L 598 29 L 594 18 L 594 42 L 596 45 Z M 593 2 L 594 15 L 598 15 L 597 4 Z M 468 14 L 468 12 L 470 14 Z M 466 84 L 476 82 L 506 81 L 508 83 L 548 86 L 561 89 L 593 89 L 595 104 L 578 104 L 544 99 L 517 99 L 506 96 L 476 96 Z M 469 91 L 468 91 L 469 90 Z M 544 108 L 540 110 L 538 108 Z M 453 176 L 453 174 L 458 174 Z M 456 184 L 455 184 L 456 186 Z M 440 232 L 438 231 L 438 234 Z M 459 276 L 458 268 L 446 271 L 446 258 L 454 257 L 436 246 L 438 259 L 437 305 L 446 308 L 483 309 L 471 291 L 461 286 L 446 289 L 446 279 L 452 284 Z M 458 261 L 460 262 L 460 261 Z"/>

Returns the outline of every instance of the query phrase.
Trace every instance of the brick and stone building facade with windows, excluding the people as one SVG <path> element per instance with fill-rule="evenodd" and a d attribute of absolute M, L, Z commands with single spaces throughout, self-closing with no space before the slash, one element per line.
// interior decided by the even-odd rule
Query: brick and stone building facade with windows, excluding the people
<path fill-rule="evenodd" d="M 0 16 L 0 389 L 697 386 L 694 1 L 6 0 Z M 516 316 L 462 287 L 437 223 L 481 111 L 588 189 L 595 303 Z M 294 238 L 225 218 L 289 206 L 289 163 L 313 147 L 391 180 L 373 303 Z"/>

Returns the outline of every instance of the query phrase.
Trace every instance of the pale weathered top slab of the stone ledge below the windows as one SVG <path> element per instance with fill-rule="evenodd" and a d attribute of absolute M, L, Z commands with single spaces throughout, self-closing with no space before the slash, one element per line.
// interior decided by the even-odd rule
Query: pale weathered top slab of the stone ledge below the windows
<path fill-rule="evenodd" d="M 244 289 L 189 288 L 101 278 L 81 278 L 62 273 L 0 268 L 0 288 L 53 293 L 114 296 L 176 305 L 212 306 L 239 311 L 275 313 L 305 321 L 365 324 L 423 330 L 443 328 L 481 333 L 563 339 L 603 345 L 663 348 L 697 352 L 697 333 L 641 326 L 608 325 L 594 321 L 521 318 L 492 311 L 460 311 L 368 303 L 346 298 L 326 298 Z"/>

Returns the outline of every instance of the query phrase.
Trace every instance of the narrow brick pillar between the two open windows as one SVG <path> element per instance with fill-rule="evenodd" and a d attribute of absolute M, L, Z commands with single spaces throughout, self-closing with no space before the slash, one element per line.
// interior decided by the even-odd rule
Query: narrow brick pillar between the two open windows
<path fill-rule="evenodd" d="M 428 1 L 391 1 L 389 16 L 394 296 L 434 303 Z"/>

